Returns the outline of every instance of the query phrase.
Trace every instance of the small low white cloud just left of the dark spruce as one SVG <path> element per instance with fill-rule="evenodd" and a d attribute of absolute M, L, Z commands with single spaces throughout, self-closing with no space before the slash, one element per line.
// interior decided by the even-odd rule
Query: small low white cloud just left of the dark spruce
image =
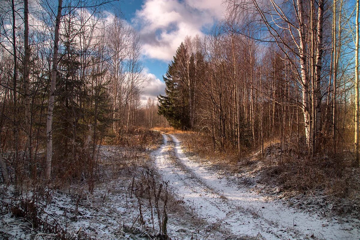
<path fill-rule="evenodd" d="M 159 78 L 152 73 L 147 73 L 148 81 L 144 83 L 143 94 L 141 95 L 141 101 L 143 104 L 150 98 L 157 102 L 157 96 L 159 94 L 165 95 L 165 83 L 160 81 Z"/>

